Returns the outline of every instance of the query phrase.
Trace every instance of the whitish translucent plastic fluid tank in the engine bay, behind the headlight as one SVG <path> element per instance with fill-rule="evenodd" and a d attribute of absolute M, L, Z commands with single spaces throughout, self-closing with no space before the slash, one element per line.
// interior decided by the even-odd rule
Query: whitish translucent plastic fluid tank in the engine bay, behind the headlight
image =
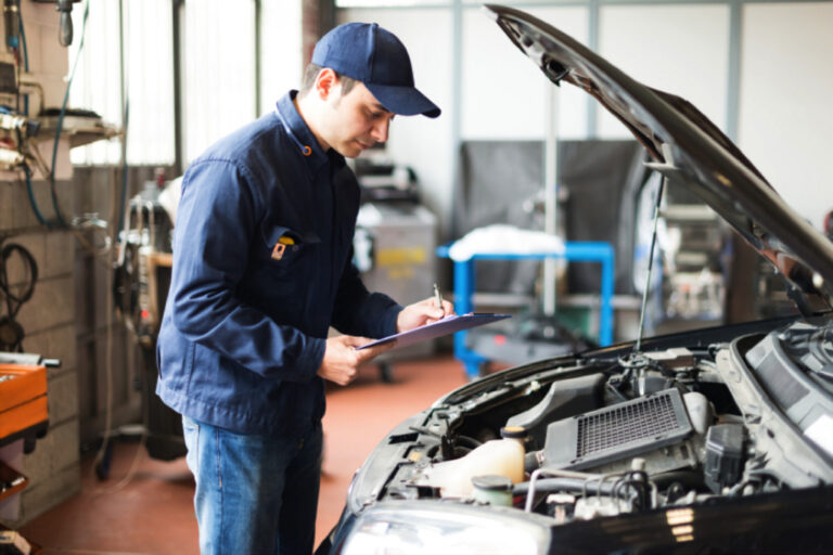
<path fill-rule="evenodd" d="M 469 498 L 476 476 L 505 476 L 512 483 L 524 481 L 526 430 L 513 426 L 500 430 L 503 439 L 486 441 L 467 455 L 437 463 L 425 472 L 420 483 L 439 488 L 444 498 Z"/>

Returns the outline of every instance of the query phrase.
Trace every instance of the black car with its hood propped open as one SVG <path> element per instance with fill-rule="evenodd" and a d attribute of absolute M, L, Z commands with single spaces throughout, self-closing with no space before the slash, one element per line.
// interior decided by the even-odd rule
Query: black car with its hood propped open
<path fill-rule="evenodd" d="M 795 314 L 504 370 L 396 426 L 318 553 L 830 553 L 833 243 L 685 100 L 486 5 L 783 276 Z"/>

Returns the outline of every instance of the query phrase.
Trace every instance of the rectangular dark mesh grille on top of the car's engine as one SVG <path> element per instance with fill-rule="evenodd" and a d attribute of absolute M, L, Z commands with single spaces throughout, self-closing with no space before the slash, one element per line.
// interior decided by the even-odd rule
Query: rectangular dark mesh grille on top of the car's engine
<path fill-rule="evenodd" d="M 678 428 L 670 395 L 640 399 L 633 404 L 580 417 L 576 456 L 587 456 Z"/>

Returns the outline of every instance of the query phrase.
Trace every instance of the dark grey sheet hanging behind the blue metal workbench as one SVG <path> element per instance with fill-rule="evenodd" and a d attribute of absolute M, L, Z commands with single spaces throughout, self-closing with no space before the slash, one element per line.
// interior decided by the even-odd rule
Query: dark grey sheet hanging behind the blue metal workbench
<path fill-rule="evenodd" d="M 466 141 L 454 196 L 457 238 L 492 223 L 542 230 L 543 141 Z M 635 201 L 648 171 L 636 141 L 558 143 L 559 227 L 566 241 L 603 241 L 616 251 L 618 294 L 632 294 Z M 534 294 L 539 263 L 477 263 L 477 291 Z M 571 263 L 569 293 L 599 293 L 598 263 Z"/>

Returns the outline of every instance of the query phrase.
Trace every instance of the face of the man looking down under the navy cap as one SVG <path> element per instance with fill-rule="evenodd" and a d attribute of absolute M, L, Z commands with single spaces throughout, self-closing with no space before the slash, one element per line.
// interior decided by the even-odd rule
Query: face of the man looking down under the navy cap
<path fill-rule="evenodd" d="M 387 130 L 394 114 L 385 109 L 361 82 L 347 94 L 341 83 L 326 98 L 322 138 L 347 158 L 355 158 L 375 143 L 387 141 Z"/>

